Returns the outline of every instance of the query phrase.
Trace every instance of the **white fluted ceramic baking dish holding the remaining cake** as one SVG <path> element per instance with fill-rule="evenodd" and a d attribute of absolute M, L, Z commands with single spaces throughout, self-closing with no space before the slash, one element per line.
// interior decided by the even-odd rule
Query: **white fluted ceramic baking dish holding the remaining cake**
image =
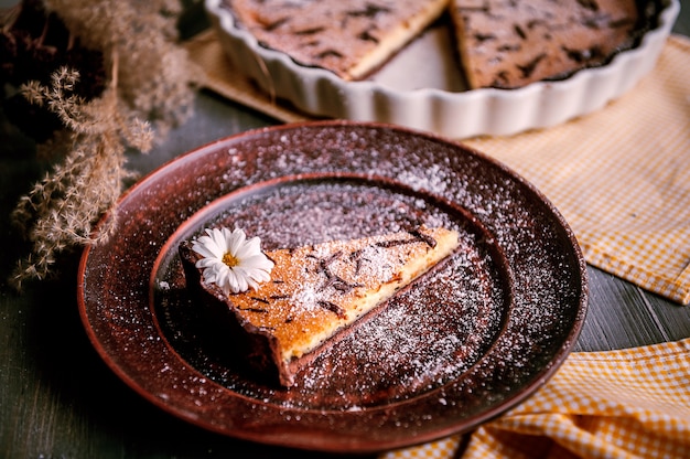
<path fill-rule="evenodd" d="M 370 79 L 346 82 L 261 46 L 223 3 L 205 3 L 220 43 L 235 68 L 262 90 L 315 117 L 390 122 L 459 139 L 546 128 L 604 107 L 654 68 L 680 10 L 679 0 L 662 0 L 656 28 L 606 65 L 519 89 L 464 90 L 443 30 L 429 30 Z M 421 56 L 424 65 L 416 65 Z"/>

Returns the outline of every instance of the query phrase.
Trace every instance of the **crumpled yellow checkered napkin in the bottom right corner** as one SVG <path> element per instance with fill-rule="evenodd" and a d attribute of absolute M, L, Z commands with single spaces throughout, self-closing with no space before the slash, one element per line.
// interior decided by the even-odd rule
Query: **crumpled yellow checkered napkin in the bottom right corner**
<path fill-rule="evenodd" d="M 466 440 L 381 459 L 690 458 L 690 339 L 572 353 L 532 397 Z"/>

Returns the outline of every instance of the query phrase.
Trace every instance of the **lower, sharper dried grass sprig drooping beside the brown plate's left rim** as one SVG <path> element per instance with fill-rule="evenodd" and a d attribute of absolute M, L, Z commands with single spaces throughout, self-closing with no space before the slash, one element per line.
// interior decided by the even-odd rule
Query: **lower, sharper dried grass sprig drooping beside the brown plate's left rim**
<path fill-rule="evenodd" d="M 93 225 L 114 209 L 125 179 L 131 177 L 125 168 L 126 148 L 151 148 L 153 131 L 121 106 L 115 88 L 85 103 L 69 94 L 77 82 L 78 72 L 61 68 L 51 87 L 35 82 L 22 87 L 30 100 L 46 104 L 71 128 L 72 148 L 12 213 L 33 244 L 31 256 L 14 271 L 18 288 L 28 278 L 45 278 L 61 252 L 98 244 L 111 234 L 115 214 L 96 235 Z"/>

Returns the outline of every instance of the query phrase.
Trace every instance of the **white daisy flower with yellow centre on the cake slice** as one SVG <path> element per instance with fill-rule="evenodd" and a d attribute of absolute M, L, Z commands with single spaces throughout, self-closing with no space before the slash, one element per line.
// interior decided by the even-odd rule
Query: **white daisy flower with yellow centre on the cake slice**
<path fill-rule="evenodd" d="M 204 269 L 204 281 L 216 284 L 225 295 L 255 290 L 260 282 L 270 280 L 273 261 L 261 252 L 258 237 L 247 239 L 242 230 L 206 230 L 192 244 L 192 249 L 204 258 L 196 267 Z"/>

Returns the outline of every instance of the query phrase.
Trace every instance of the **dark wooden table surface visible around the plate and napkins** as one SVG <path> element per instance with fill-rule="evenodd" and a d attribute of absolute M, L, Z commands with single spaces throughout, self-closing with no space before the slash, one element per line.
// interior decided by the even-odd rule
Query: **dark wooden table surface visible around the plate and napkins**
<path fill-rule="evenodd" d="M 675 32 L 690 35 L 690 2 L 681 3 L 687 8 Z M 129 167 L 145 173 L 200 145 L 276 124 L 201 92 L 194 118 L 150 154 L 132 156 Z M 22 295 L 9 288 L 4 279 L 26 247 L 8 216 L 40 177 L 41 166 L 29 153 L 31 146 L 2 140 L 0 148 L 15 150 L 0 156 L 0 458 L 324 457 L 211 434 L 134 394 L 86 338 L 76 306 L 76 257 L 57 280 L 36 284 Z M 576 351 L 690 337 L 690 307 L 596 268 L 589 273 L 590 310 Z"/>

